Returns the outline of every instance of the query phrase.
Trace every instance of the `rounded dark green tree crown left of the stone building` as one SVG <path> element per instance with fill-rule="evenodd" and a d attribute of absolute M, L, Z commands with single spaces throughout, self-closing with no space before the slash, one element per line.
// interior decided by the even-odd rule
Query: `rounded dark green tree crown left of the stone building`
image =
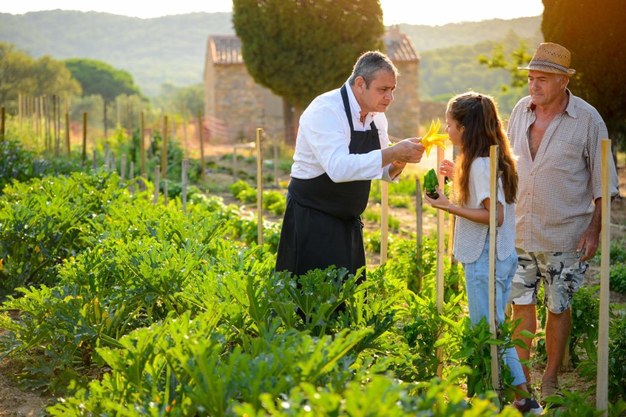
<path fill-rule="evenodd" d="M 83 95 L 100 94 L 106 101 L 113 101 L 120 94 L 140 94 L 128 71 L 96 59 L 71 58 L 64 63 L 81 84 Z"/>

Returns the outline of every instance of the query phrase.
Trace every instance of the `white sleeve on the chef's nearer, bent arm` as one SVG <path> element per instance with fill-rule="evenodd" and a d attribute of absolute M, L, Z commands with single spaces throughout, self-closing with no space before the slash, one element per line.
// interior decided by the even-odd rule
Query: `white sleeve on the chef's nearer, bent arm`
<path fill-rule="evenodd" d="M 336 183 L 382 178 L 384 170 L 380 149 L 366 154 L 350 153 L 349 141 L 346 141 L 346 133 L 341 128 L 342 118 L 345 117 L 345 114 L 339 114 L 327 105 L 317 109 L 314 120 L 300 124 L 312 153 Z"/>

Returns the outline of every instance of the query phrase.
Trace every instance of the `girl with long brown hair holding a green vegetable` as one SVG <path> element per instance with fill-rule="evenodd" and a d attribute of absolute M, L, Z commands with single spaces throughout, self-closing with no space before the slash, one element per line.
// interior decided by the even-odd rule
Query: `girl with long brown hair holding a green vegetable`
<path fill-rule="evenodd" d="M 505 319 L 506 301 L 517 268 L 515 251 L 515 195 L 517 173 L 495 101 L 490 96 L 464 93 L 454 96 L 446 109 L 446 133 L 459 146 L 456 161 L 444 159 L 439 172 L 453 178 L 453 201 L 437 188 L 438 198 L 425 196 L 434 208 L 457 216 L 454 225 L 453 254 L 463 264 L 469 318 L 473 324 L 488 318 L 489 278 L 489 204 L 491 145 L 499 145 L 498 231 L 496 238 L 496 321 Z M 491 312 L 493 314 L 493 312 Z M 511 369 L 513 385 L 518 388 L 515 406 L 523 413 L 541 414 L 543 409 L 528 393 L 526 377 L 514 348 L 506 349 L 505 362 Z"/>

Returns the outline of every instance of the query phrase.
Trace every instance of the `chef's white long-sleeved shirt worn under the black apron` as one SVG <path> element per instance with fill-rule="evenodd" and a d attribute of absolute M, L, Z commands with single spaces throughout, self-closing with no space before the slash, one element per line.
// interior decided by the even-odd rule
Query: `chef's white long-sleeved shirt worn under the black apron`
<path fill-rule="evenodd" d="M 350 124 L 341 99 L 340 89 L 318 96 L 300 117 L 295 143 L 294 164 L 291 176 L 300 179 L 316 178 L 328 174 L 332 181 L 343 183 L 366 179 L 383 179 L 398 183 L 398 175 L 389 177 L 390 165 L 381 167 L 380 149 L 366 154 L 350 154 Z M 367 113 L 361 123 L 361 106 L 346 81 L 350 113 L 355 131 L 370 130 L 374 121 L 381 141 L 381 149 L 389 146 L 387 118 L 384 113 Z"/>

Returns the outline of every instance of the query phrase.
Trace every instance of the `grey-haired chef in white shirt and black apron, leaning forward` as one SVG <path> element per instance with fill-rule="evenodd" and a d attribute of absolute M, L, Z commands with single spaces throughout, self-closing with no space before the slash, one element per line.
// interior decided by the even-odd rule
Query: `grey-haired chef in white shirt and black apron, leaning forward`
<path fill-rule="evenodd" d="M 331 265 L 351 274 L 365 266 L 361 214 L 372 179 L 398 182 L 424 153 L 418 138 L 389 146 L 384 112 L 398 70 L 378 51 L 361 55 L 339 89 L 309 104 L 300 118 L 276 271 L 305 274 Z M 365 274 L 357 277 L 361 282 Z"/>

